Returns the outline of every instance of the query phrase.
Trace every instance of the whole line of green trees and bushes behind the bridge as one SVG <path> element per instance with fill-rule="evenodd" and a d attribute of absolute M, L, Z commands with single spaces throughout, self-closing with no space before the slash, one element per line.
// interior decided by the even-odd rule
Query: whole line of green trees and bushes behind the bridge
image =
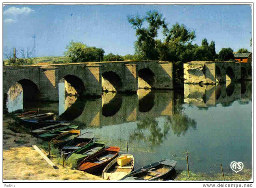
<path fill-rule="evenodd" d="M 231 48 L 222 48 L 218 54 L 215 50 L 215 41 L 210 43 L 206 38 L 201 45 L 192 44 L 196 39 L 195 30 L 190 30 L 184 24 L 175 23 L 168 28 L 166 18 L 158 11 L 148 11 L 144 17 L 139 15 L 127 16 L 127 21 L 135 30 L 137 40 L 134 42 L 135 54 L 121 56 L 109 53 L 105 55 L 102 48 L 89 47 L 80 41 L 70 41 L 66 46 L 64 56 L 69 62 L 99 62 L 124 60 L 163 60 L 177 63 L 199 60 L 233 61 L 234 52 Z M 145 25 L 147 27 L 145 27 Z M 163 39 L 158 39 L 159 30 L 162 29 Z M 250 40 L 251 45 L 251 40 Z M 247 53 L 248 50 L 240 48 L 237 53 Z M 19 54 L 19 57 L 16 56 Z M 32 64 L 32 50 L 21 48 L 18 53 L 11 53 L 4 49 L 4 56 L 9 64 Z"/>

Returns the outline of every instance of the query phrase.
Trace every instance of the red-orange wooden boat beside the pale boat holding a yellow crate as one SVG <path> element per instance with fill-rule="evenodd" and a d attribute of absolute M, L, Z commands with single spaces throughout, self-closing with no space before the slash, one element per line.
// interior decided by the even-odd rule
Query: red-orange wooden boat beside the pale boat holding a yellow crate
<path fill-rule="evenodd" d="M 107 149 L 102 149 L 101 151 L 96 152 L 96 154 L 86 157 L 79 165 L 77 166 L 78 170 L 86 172 L 99 172 L 104 169 L 104 167 L 118 156 L 120 147 L 110 146 Z"/>

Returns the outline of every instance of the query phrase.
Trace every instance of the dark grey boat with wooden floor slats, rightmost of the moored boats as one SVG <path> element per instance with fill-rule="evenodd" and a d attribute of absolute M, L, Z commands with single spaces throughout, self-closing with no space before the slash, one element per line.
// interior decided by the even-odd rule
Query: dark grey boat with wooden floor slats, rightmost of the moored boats
<path fill-rule="evenodd" d="M 170 174 L 174 170 L 176 163 L 174 160 L 164 159 L 137 169 L 121 180 L 159 180 Z"/>

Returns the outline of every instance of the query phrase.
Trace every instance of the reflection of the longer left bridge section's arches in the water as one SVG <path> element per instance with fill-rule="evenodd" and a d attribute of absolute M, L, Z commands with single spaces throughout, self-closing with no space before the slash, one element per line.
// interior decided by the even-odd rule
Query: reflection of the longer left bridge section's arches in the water
<path fill-rule="evenodd" d="M 101 98 L 90 100 L 72 98 L 74 96 L 66 96 L 65 102 L 60 101 L 59 112 L 63 113 L 59 117 L 89 127 L 116 125 L 173 114 L 173 91 L 170 90 L 142 89 L 138 90 L 138 95 L 109 92 L 103 93 Z M 72 105 L 71 101 L 74 101 Z"/>

